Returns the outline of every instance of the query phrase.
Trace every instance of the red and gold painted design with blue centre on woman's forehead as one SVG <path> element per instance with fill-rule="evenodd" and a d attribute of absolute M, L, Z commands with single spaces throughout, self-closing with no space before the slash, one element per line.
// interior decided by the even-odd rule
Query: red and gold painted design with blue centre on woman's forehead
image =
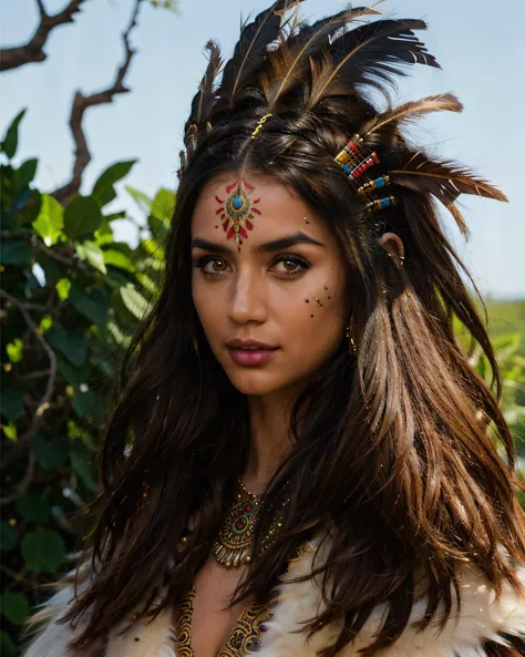
<path fill-rule="evenodd" d="M 217 195 L 215 199 L 220 204 L 220 207 L 215 212 L 220 215 L 223 220 L 223 228 L 226 233 L 226 238 L 235 237 L 237 244 L 243 244 L 241 237 L 248 238 L 248 230 L 253 230 L 254 214 L 260 215 L 260 211 L 255 207 L 260 201 L 260 196 L 251 201 L 249 198 L 251 192 L 255 189 L 246 181 L 235 181 L 231 185 L 226 186 L 226 201 L 222 201 Z M 231 225 L 230 225 L 231 220 Z M 244 224 L 244 225 L 243 225 Z"/>

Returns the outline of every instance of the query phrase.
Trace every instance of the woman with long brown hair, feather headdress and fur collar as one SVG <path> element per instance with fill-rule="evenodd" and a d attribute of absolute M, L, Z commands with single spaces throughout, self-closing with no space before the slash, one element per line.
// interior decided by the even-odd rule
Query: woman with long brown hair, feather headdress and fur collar
<path fill-rule="evenodd" d="M 524 654 L 523 486 L 435 203 L 466 236 L 457 196 L 505 196 L 403 136 L 455 96 L 370 100 L 439 66 L 423 21 L 308 25 L 297 4 L 245 24 L 224 68 L 207 44 L 91 560 L 27 657 Z"/>

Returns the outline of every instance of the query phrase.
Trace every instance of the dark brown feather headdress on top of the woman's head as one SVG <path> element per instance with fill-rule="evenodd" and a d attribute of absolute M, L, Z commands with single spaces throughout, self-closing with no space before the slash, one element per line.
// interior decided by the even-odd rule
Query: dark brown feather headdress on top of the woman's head
<path fill-rule="evenodd" d="M 461 232 L 467 236 L 465 222 L 455 205 L 459 195 L 475 194 L 498 201 L 507 201 L 506 196 L 464 166 L 430 158 L 422 150 L 411 150 L 402 134 L 403 127 L 422 116 L 437 111 L 461 112 L 462 104 L 452 93 L 443 93 L 394 107 L 389 96 L 389 88 L 395 88 L 397 79 L 405 76 L 412 64 L 441 68 L 414 33 L 425 30 L 426 23 L 419 19 L 361 20 L 382 13 L 379 4 L 383 0 L 379 0 L 371 7 L 349 7 L 310 25 L 297 18 L 300 2 L 274 2 L 253 22 L 246 21 L 224 69 L 220 69 L 218 47 L 208 42 L 209 64 L 186 122 L 186 154 L 182 153 L 179 175 L 187 164 L 186 155 L 194 152 L 197 142 L 215 125 L 224 125 L 235 117 L 236 112 L 246 112 L 254 99 L 259 106 L 264 104 L 260 111 L 264 110 L 265 115 L 279 116 L 279 113 L 292 111 L 300 117 L 329 122 L 334 107 L 339 113 L 348 112 L 352 101 L 359 100 L 370 107 L 364 93 L 375 90 L 387 97 L 388 107 L 372 116 L 369 113 L 356 125 L 360 152 L 356 150 L 352 171 L 359 168 L 360 154 L 375 155 L 378 148 L 388 152 L 389 166 L 380 166 L 380 158 L 375 156 L 369 162 L 375 173 L 362 177 L 356 191 L 364 189 L 361 196 L 367 196 L 368 202 L 378 199 L 374 196 L 378 185 L 389 185 L 397 198 L 402 196 L 403 189 L 431 194 L 452 213 Z M 294 16 L 289 18 L 292 9 Z M 223 79 L 217 85 L 215 80 L 219 72 Z M 333 103 L 334 100 L 339 103 Z M 331 156 L 337 162 L 338 154 Z M 347 167 L 346 173 L 349 172 Z M 394 196 L 390 198 L 394 201 Z M 377 204 L 380 208 L 379 201 Z"/>

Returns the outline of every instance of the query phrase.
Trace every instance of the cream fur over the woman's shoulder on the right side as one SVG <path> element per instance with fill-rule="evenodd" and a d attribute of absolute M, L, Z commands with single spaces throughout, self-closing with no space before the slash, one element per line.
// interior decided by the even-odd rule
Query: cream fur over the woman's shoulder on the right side
<path fill-rule="evenodd" d="M 320 589 L 312 579 L 291 582 L 317 566 L 313 561 L 318 545 L 319 541 L 312 542 L 312 550 L 306 551 L 300 560 L 290 564 L 288 572 L 281 577 L 272 619 L 266 623 L 268 632 L 262 639 L 260 657 L 278 657 L 282 654 L 288 657 L 313 657 L 316 650 L 326 647 L 338 636 L 341 626 L 336 624 L 318 632 L 308 644 L 303 643 L 299 634 L 295 634 L 305 620 L 322 609 Z M 318 555 L 321 560 L 327 550 L 328 545 L 321 544 Z M 517 564 L 515 573 L 525 587 L 525 564 Z M 423 618 L 428 602 L 423 596 L 414 604 L 409 624 L 399 640 L 392 647 L 383 649 L 381 657 L 503 656 L 503 651 L 491 653 L 486 646 L 490 643 L 508 646 L 512 637 L 525 641 L 525 598 L 519 597 L 508 584 L 496 596 L 494 586 L 471 563 L 461 564 L 459 577 L 461 606 L 454 606 L 443 630 L 439 632 L 436 622 L 418 630 L 416 624 Z M 373 643 L 374 635 L 385 622 L 387 610 L 387 604 L 373 609 L 353 643 L 340 653 L 341 657 L 358 657 L 360 649 Z M 439 612 L 442 610 L 443 606 Z M 511 654 L 521 655 L 522 651 L 508 653 Z"/>

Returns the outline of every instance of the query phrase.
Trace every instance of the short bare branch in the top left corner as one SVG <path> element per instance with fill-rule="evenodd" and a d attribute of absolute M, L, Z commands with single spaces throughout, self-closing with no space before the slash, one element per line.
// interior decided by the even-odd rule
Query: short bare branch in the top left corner
<path fill-rule="evenodd" d="M 85 2 L 85 0 L 70 0 L 62 11 L 59 11 L 59 13 L 55 13 L 54 16 L 48 16 L 42 0 L 37 0 L 40 13 L 40 23 L 37 31 L 31 41 L 24 45 L 0 49 L 0 71 L 11 71 L 12 69 L 23 66 L 24 64 L 43 62 L 48 57 L 43 51 L 43 48 L 48 41 L 50 32 L 59 25 L 73 23 L 73 17 L 80 11 L 80 7 L 83 2 Z"/>

